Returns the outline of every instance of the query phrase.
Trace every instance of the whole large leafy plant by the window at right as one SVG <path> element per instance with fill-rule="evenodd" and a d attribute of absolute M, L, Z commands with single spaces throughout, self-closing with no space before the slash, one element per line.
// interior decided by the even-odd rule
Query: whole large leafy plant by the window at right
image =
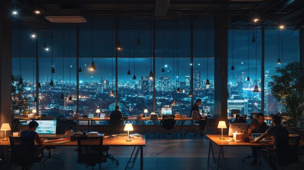
<path fill-rule="evenodd" d="M 304 85 L 303 72 L 299 62 L 288 63 L 285 68 L 276 68 L 280 75 L 271 76 L 271 94 L 280 102 L 286 113 L 282 114 L 283 124 L 287 127 L 302 128 L 304 122 Z M 302 80 L 302 81 L 301 81 Z"/>

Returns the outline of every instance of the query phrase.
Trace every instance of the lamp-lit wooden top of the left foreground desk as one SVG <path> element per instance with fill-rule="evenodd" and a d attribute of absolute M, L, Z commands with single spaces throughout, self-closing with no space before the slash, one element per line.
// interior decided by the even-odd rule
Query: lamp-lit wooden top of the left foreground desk
<path fill-rule="evenodd" d="M 62 137 L 62 135 L 57 136 L 58 138 Z M 7 136 L 8 140 L 3 141 L 0 139 L 0 147 L 1 146 L 10 146 L 10 140 Z M 55 137 L 54 137 L 55 138 Z M 146 139 L 143 136 L 143 139 L 131 139 L 131 141 L 126 141 L 126 139 L 110 139 L 106 138 L 102 140 L 102 144 L 105 146 L 146 146 Z M 69 141 L 61 144 L 54 144 L 51 142 L 43 142 L 44 146 L 77 146 L 77 141 Z"/>

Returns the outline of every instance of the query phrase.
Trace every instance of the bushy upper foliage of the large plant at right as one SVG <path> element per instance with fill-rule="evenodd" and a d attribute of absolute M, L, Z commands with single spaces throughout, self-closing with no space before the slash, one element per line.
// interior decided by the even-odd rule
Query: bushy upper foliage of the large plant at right
<path fill-rule="evenodd" d="M 271 76 L 272 81 L 269 82 L 268 86 L 277 101 L 282 101 L 294 90 L 304 92 L 304 85 L 300 82 L 301 69 L 299 62 L 288 63 L 285 68 L 276 68 L 276 72 L 281 73 L 281 75 Z"/>

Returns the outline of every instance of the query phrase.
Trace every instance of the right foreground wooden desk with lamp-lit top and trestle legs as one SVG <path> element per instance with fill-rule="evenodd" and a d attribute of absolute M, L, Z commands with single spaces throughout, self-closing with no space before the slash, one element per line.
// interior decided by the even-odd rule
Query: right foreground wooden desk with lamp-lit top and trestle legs
<path fill-rule="evenodd" d="M 213 162 L 215 162 L 214 159 L 214 153 L 213 153 L 213 147 L 212 147 L 212 143 L 216 144 L 218 147 L 220 147 L 220 151 L 218 154 L 218 161 L 217 161 L 217 170 L 219 168 L 219 164 L 220 164 L 220 158 L 221 156 L 223 157 L 223 161 L 224 161 L 224 169 L 226 170 L 226 162 L 225 162 L 225 156 L 224 156 L 224 149 L 223 147 L 252 147 L 252 146 L 257 146 L 257 147 L 271 147 L 273 145 L 273 141 L 270 140 L 268 142 L 235 142 L 235 141 L 230 141 L 227 142 L 227 139 L 229 139 L 228 136 L 225 136 L 225 139 L 220 139 L 221 135 L 206 135 L 210 142 L 209 142 L 209 152 L 208 152 L 208 165 L 209 165 L 209 159 L 210 159 L 210 151 L 212 153 L 212 157 L 213 157 Z"/>

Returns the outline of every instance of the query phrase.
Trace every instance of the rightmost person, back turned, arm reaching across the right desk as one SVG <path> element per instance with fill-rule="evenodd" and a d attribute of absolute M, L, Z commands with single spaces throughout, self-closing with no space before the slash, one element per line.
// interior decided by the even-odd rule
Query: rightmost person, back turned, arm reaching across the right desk
<path fill-rule="evenodd" d="M 258 142 L 266 136 L 272 136 L 273 150 L 276 153 L 278 163 L 280 165 L 284 164 L 287 160 L 287 156 L 288 156 L 287 148 L 288 148 L 288 140 L 289 140 L 288 130 L 286 127 L 282 126 L 281 120 L 282 119 L 279 115 L 274 115 L 272 117 L 273 126 L 268 128 L 266 132 L 257 139 L 250 141 L 250 142 Z"/>

